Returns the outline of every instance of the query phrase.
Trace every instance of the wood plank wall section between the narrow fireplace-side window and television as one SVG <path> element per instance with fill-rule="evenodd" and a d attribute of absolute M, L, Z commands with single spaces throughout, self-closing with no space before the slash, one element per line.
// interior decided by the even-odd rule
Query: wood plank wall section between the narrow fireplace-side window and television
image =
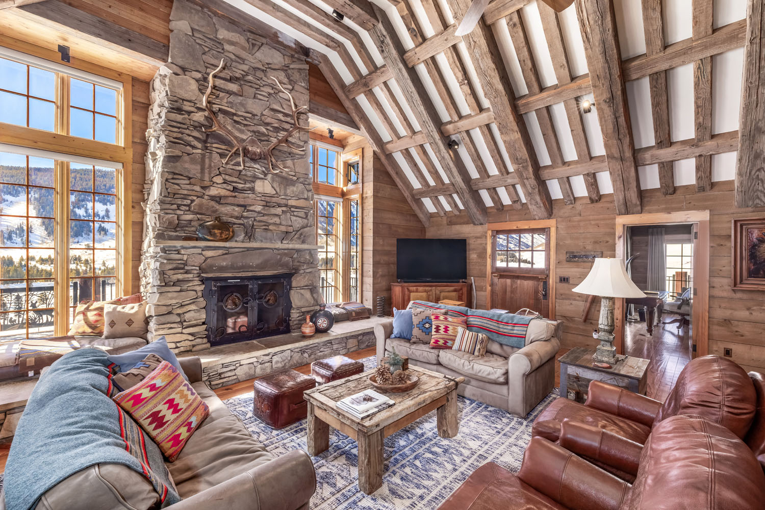
<path fill-rule="evenodd" d="M 425 227 L 369 145 L 363 148 L 363 164 L 362 300 L 376 311 L 377 297 L 385 296 L 386 314 L 392 315 L 396 239 L 424 238 Z"/>

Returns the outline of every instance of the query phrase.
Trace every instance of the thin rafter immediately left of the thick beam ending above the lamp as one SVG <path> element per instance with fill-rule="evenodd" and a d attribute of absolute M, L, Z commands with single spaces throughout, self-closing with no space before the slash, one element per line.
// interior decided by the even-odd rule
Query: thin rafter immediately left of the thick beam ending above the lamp
<path fill-rule="evenodd" d="M 544 2 L 537 4 L 539 7 L 539 17 L 542 19 L 542 29 L 545 32 L 545 40 L 550 51 L 552 67 L 555 70 L 555 78 L 558 84 L 565 85 L 571 83 L 571 67 L 568 64 L 568 55 L 563 44 L 563 33 L 561 31 L 558 13 Z M 584 132 L 584 122 L 581 119 L 581 110 L 576 99 L 565 99 L 563 107 L 568 119 L 568 127 L 571 131 L 571 139 L 574 141 L 577 159 L 580 163 L 590 161 L 590 145 L 587 135 Z M 587 189 L 587 196 L 590 203 L 601 200 L 601 190 L 597 187 L 597 179 L 594 174 L 584 174 L 584 187 Z"/>

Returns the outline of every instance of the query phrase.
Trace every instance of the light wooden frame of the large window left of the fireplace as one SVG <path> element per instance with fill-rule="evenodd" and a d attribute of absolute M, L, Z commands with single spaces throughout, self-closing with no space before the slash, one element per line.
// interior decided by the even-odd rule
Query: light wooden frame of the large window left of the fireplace
<path fill-rule="evenodd" d="M 70 63 L 64 63 L 60 61 L 60 54 L 54 50 L 11 37 L 4 39 L 2 46 L 63 67 L 70 67 L 72 70 L 93 73 L 122 83 L 122 89 L 116 91 L 117 132 L 113 144 L 68 134 L 70 78 L 75 77 L 80 80 L 82 78 L 70 76 L 63 71 L 56 73 L 54 132 L 0 122 L 0 143 L 15 145 L 18 148 L 41 149 L 67 156 L 122 164 L 122 168 L 116 171 L 116 294 L 128 294 L 132 277 L 132 76 L 74 57 Z M 34 64 L 31 65 L 34 67 Z M 54 194 L 54 214 L 56 215 L 54 335 L 56 336 L 66 335 L 69 330 L 69 176 L 67 172 L 67 161 L 56 160 Z"/>

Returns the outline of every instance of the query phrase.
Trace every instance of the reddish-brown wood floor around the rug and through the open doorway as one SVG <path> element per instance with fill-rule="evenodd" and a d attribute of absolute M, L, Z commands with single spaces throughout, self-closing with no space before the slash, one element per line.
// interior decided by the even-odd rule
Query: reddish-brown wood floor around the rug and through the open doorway
<path fill-rule="evenodd" d="M 647 395 L 656 400 L 663 401 L 669 390 L 675 384 L 682 367 L 690 360 L 690 347 L 688 342 L 688 328 L 678 334 L 675 325 L 656 326 L 653 335 L 646 333 L 645 323 L 627 323 L 624 332 L 625 351 L 630 356 L 650 359 L 648 365 L 648 390 Z M 346 356 L 352 359 L 362 359 L 375 356 L 376 348 L 369 347 L 356 352 L 350 352 Z M 557 359 L 563 356 L 568 349 L 560 349 L 555 356 L 555 386 L 560 386 L 561 365 Z M 311 373 L 311 365 L 298 366 L 298 372 Z M 226 398 L 244 395 L 252 391 L 252 382 L 237 382 L 230 386 L 223 386 L 215 390 L 216 395 L 223 400 Z M 0 445 L 0 473 L 5 471 L 5 461 L 8 460 L 10 444 Z"/>

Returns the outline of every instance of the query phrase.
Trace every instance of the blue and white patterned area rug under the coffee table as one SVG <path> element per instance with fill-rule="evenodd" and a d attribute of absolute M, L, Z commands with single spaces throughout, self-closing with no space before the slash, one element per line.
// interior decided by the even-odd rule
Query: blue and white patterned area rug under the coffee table
<path fill-rule="evenodd" d="M 375 358 L 362 360 L 373 369 Z M 330 448 L 313 457 L 317 487 L 311 508 L 327 510 L 418 508 L 435 510 L 470 473 L 493 461 L 516 473 L 531 440 L 534 418 L 555 396 L 557 388 L 525 419 L 470 398 L 458 399 L 460 431 L 451 439 L 438 437 L 435 412 L 386 437 L 382 487 L 373 495 L 360 492 L 356 441 L 330 429 Z M 250 434 L 274 456 L 307 451 L 305 420 L 272 430 L 252 414 L 252 393 L 226 400 Z"/>

